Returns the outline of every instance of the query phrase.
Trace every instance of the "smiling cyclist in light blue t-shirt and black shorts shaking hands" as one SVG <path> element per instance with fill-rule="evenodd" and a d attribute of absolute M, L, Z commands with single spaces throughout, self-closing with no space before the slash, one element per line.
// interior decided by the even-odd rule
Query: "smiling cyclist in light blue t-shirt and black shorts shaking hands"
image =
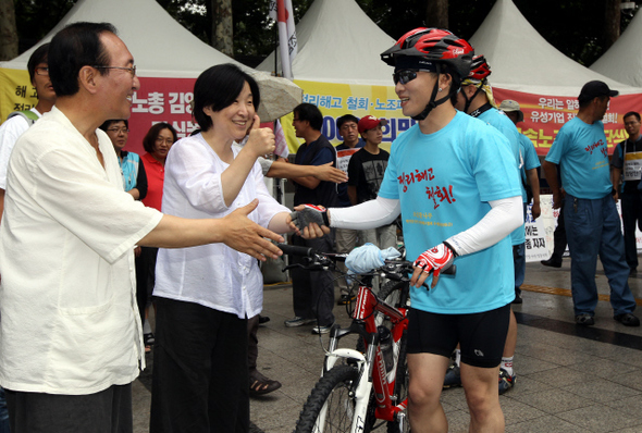
<path fill-rule="evenodd" d="M 407 345 L 417 433 L 448 430 L 440 396 L 459 342 L 470 430 L 504 430 L 497 376 L 515 297 L 507 236 L 522 223 L 521 194 L 506 138 L 453 106 L 472 55 L 466 40 L 436 28 L 411 30 L 382 53 L 395 67 L 404 115 L 418 123 L 393 143 L 379 196 L 328 214 L 295 208 L 309 237 L 326 225 L 374 228 L 402 214 L 407 255 L 417 259 Z M 306 224 L 322 216 L 328 224 Z M 442 275 L 453 261 L 457 275 Z"/>

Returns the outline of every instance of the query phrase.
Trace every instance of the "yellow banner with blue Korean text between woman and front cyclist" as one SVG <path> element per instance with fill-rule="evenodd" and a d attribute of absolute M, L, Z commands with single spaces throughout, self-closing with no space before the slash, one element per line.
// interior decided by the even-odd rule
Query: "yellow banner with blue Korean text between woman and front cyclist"
<path fill-rule="evenodd" d="M 336 127 L 336 119 L 344 114 L 354 114 L 359 119 L 369 114 L 386 119 L 388 124 L 383 127 L 381 147 L 388 151 L 395 138 L 416 123 L 402 113 L 399 98 L 392 85 L 368 86 L 306 82 L 301 79 L 295 79 L 294 82 L 304 89 L 304 102 L 319 107 L 323 113 L 321 132 L 335 146 L 343 141 Z M 289 113 L 281 117 L 281 124 L 287 139 L 289 152 L 296 153 L 303 139 L 296 137 L 292 126 L 292 119 L 293 114 Z"/>

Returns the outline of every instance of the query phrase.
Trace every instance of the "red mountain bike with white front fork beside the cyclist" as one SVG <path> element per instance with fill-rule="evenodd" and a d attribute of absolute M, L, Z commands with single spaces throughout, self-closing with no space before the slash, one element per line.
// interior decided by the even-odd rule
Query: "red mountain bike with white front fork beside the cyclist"
<path fill-rule="evenodd" d="M 337 270 L 335 262 L 346 258 L 305 247 L 279 247 L 285 253 L 307 257 L 306 263 L 297 265 L 309 270 Z M 454 273 L 454 267 L 449 271 Z M 411 274 L 412 262 L 393 259 L 354 275 L 360 285 L 353 322 L 347 329 L 332 327 L 322 376 L 304 406 L 295 433 L 360 433 L 384 423 L 388 433 L 410 431 L 406 311 Z M 365 282 L 373 275 L 390 280 L 376 295 Z M 351 334 L 360 336 L 357 348 L 338 348 L 339 339 Z"/>

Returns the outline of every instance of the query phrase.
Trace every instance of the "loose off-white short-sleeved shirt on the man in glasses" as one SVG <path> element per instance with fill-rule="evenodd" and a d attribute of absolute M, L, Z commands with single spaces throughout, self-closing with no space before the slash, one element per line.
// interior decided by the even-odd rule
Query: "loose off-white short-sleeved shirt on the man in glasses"
<path fill-rule="evenodd" d="M 123 191 L 111 140 L 96 150 L 55 107 L 17 140 L 0 224 L 0 384 L 85 395 L 144 366 L 135 244 L 162 214 Z"/>

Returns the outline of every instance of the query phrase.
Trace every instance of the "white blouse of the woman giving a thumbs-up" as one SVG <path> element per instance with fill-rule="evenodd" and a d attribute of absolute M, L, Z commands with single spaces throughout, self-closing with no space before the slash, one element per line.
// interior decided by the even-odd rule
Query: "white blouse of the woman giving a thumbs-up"
<path fill-rule="evenodd" d="M 239 150 L 232 149 L 236 158 Z M 276 213 L 289 212 L 268 193 L 258 162 L 226 207 L 221 174 L 229 166 L 200 134 L 176 141 L 165 161 L 162 211 L 183 218 L 222 218 L 258 198 L 259 206 L 248 218 L 263 227 Z M 257 259 L 224 244 L 161 248 L 153 295 L 251 318 L 261 312 L 263 276 Z"/>

